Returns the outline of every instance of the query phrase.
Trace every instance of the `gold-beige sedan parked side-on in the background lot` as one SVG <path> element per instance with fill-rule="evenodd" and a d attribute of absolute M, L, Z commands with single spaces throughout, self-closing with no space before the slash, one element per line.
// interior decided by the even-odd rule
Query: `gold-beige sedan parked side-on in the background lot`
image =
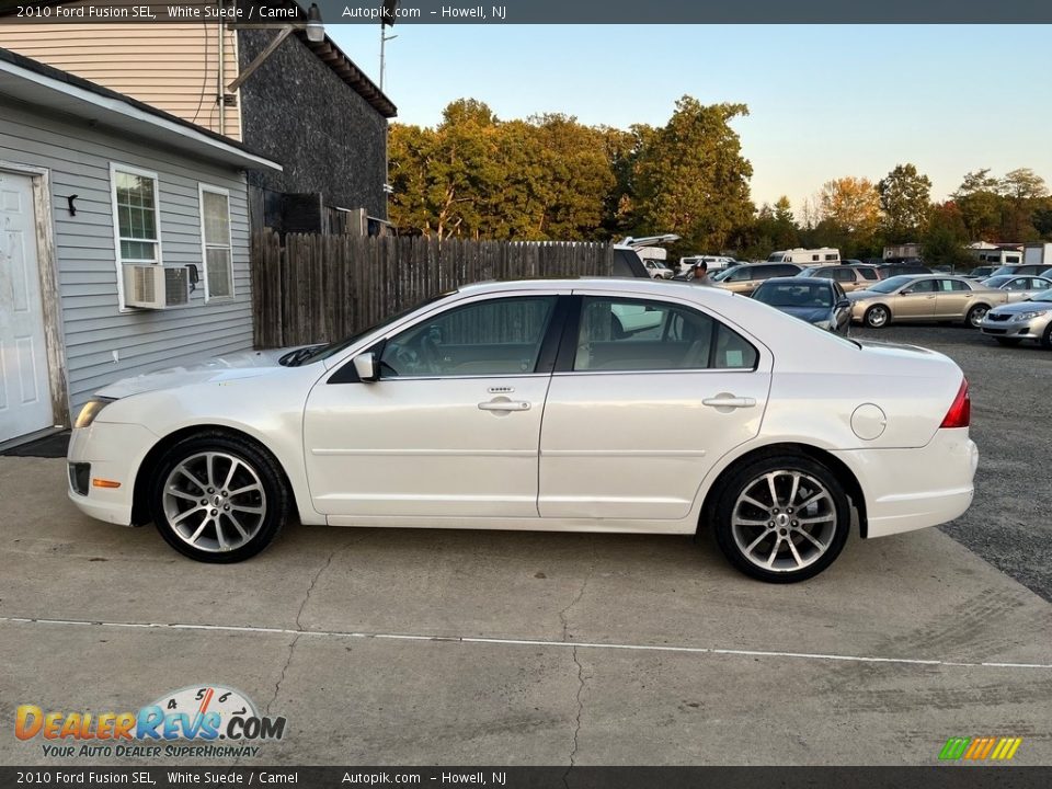
<path fill-rule="evenodd" d="M 992 308 L 1007 304 L 1008 293 L 964 277 L 904 274 L 847 298 L 851 320 L 870 329 L 892 321 L 964 321 L 977 327 Z"/>

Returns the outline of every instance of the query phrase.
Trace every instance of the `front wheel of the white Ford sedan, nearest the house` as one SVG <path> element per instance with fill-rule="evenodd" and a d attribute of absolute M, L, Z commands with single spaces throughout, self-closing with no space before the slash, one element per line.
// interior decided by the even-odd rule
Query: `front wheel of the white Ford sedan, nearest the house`
<path fill-rule="evenodd" d="M 289 508 L 284 474 L 270 453 L 222 433 L 191 436 L 165 451 L 148 495 L 164 540 L 183 556 L 216 564 L 266 548 Z"/>

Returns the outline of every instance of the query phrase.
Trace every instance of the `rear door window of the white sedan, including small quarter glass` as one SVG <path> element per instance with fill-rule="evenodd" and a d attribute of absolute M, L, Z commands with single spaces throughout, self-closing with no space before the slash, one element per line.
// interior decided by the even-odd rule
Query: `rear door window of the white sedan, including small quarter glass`
<path fill-rule="evenodd" d="M 758 358 L 741 334 L 688 307 L 585 296 L 573 369 L 755 369 Z"/>

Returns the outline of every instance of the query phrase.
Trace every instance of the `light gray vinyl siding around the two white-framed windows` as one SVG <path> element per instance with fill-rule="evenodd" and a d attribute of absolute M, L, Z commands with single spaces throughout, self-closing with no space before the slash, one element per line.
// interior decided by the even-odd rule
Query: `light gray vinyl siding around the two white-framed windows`
<path fill-rule="evenodd" d="M 119 378 L 252 347 L 249 217 L 244 173 L 158 149 L 123 133 L 89 128 L 0 96 L 0 162 L 47 168 L 73 412 Z M 157 173 L 165 265 L 195 264 L 202 282 L 188 307 L 122 312 L 110 163 Z M 204 300 L 198 184 L 230 193 L 235 298 Z M 77 216 L 68 195 L 78 195 Z M 114 363 L 113 352 L 119 361 Z"/>

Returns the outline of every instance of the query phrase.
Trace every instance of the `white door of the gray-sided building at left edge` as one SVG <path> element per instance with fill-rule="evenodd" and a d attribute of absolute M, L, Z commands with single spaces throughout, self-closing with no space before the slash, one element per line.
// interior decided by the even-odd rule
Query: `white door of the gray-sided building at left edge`
<path fill-rule="evenodd" d="M 0 442 L 53 424 L 33 182 L 0 172 Z"/>

